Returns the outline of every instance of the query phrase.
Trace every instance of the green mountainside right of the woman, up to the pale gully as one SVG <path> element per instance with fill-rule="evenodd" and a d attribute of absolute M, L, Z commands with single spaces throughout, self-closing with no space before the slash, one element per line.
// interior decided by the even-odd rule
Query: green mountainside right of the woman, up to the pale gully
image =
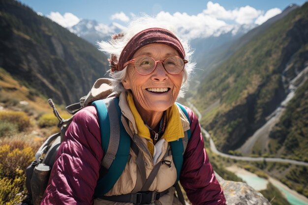
<path fill-rule="evenodd" d="M 308 3 L 258 28 L 240 38 L 248 39 L 246 44 L 232 48 L 233 55 L 192 96 L 202 125 L 224 152 L 241 146 L 265 124 L 308 61 Z"/>

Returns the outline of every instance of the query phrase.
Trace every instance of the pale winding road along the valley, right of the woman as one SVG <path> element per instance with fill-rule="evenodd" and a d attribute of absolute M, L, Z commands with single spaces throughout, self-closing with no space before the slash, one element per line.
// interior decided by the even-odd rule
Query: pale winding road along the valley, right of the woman
<path fill-rule="evenodd" d="M 201 113 L 198 111 L 198 109 L 187 99 L 187 104 L 189 107 L 195 112 L 195 114 L 198 116 L 199 121 L 202 118 Z M 283 159 L 283 158 L 275 158 L 275 157 L 243 157 L 243 156 L 234 156 L 231 154 L 225 154 L 223 152 L 220 152 L 217 150 L 213 139 L 211 138 L 210 134 L 203 128 L 201 127 L 201 132 L 204 134 L 205 138 L 210 141 L 210 148 L 211 150 L 216 153 L 217 155 L 230 158 L 230 159 L 236 159 L 236 160 L 242 160 L 242 161 L 255 161 L 255 162 L 278 162 L 278 163 L 289 163 L 289 164 L 295 164 L 295 165 L 301 165 L 301 166 L 307 166 L 308 167 L 308 162 L 303 162 L 303 161 L 297 161 L 293 159 Z"/>

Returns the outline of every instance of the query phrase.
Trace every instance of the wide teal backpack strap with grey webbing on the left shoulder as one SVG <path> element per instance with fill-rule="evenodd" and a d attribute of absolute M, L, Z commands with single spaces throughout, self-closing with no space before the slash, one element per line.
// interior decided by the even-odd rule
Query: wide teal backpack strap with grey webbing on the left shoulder
<path fill-rule="evenodd" d="M 92 105 L 97 111 L 104 150 L 100 176 L 94 190 L 94 198 L 97 198 L 106 194 L 121 176 L 128 161 L 130 137 L 121 123 L 122 113 L 119 107 L 119 98 L 97 100 Z M 113 117 L 116 117 L 117 120 Z"/>

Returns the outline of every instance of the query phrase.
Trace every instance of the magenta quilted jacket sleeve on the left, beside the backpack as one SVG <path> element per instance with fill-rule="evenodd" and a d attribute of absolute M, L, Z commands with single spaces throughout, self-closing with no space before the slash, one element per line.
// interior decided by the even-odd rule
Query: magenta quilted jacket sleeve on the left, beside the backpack
<path fill-rule="evenodd" d="M 79 111 L 69 125 L 41 205 L 91 205 L 103 150 L 96 110 Z"/>

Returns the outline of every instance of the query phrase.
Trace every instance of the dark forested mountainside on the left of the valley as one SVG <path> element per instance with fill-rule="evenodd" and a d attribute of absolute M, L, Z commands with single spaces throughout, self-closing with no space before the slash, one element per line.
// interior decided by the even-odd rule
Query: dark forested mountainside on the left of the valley
<path fill-rule="evenodd" d="M 31 8 L 0 0 L 0 67 L 59 104 L 76 102 L 109 69 L 89 42 Z"/>

